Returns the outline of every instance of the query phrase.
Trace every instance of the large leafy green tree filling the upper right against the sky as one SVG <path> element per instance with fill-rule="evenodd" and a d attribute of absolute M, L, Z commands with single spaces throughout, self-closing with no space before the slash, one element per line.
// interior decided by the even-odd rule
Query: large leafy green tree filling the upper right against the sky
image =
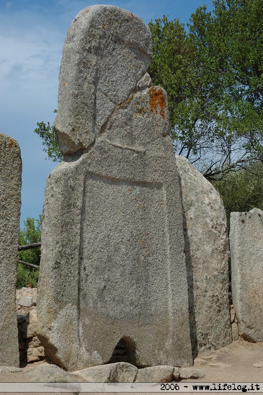
<path fill-rule="evenodd" d="M 149 24 L 154 84 L 169 100 L 175 152 L 209 180 L 263 161 L 262 0 L 216 0 L 186 33 L 166 16 Z"/>

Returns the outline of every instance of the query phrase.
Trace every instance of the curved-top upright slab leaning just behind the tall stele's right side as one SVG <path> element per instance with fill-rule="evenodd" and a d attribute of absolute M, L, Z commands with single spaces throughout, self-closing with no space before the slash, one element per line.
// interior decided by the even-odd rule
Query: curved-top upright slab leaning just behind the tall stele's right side
<path fill-rule="evenodd" d="M 231 343 L 227 229 L 219 193 L 188 159 L 176 156 L 184 213 L 194 354 Z"/>

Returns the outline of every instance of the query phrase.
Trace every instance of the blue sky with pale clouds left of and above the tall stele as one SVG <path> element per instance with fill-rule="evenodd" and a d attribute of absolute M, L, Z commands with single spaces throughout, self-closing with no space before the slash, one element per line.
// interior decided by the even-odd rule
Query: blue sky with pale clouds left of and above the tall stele
<path fill-rule="evenodd" d="M 99 4 L 108 4 L 100 1 Z M 168 15 L 186 24 L 191 13 L 212 0 L 115 0 L 145 23 Z M 42 213 L 45 179 L 56 163 L 45 160 L 37 121 L 53 123 L 58 73 L 67 29 L 94 2 L 0 0 L 0 132 L 15 138 L 23 161 L 21 226 Z"/>

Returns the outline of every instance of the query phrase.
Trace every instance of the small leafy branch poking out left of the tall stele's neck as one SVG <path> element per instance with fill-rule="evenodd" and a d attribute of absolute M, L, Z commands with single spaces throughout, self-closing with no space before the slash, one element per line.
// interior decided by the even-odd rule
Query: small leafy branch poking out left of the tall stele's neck
<path fill-rule="evenodd" d="M 56 113 L 57 110 L 54 110 Z M 54 126 L 50 126 L 50 123 L 47 122 L 37 122 L 38 127 L 34 130 L 43 140 L 42 145 L 44 146 L 43 151 L 47 154 L 47 159 L 51 159 L 54 162 L 61 162 L 63 159 L 62 154 L 60 152 Z"/>

